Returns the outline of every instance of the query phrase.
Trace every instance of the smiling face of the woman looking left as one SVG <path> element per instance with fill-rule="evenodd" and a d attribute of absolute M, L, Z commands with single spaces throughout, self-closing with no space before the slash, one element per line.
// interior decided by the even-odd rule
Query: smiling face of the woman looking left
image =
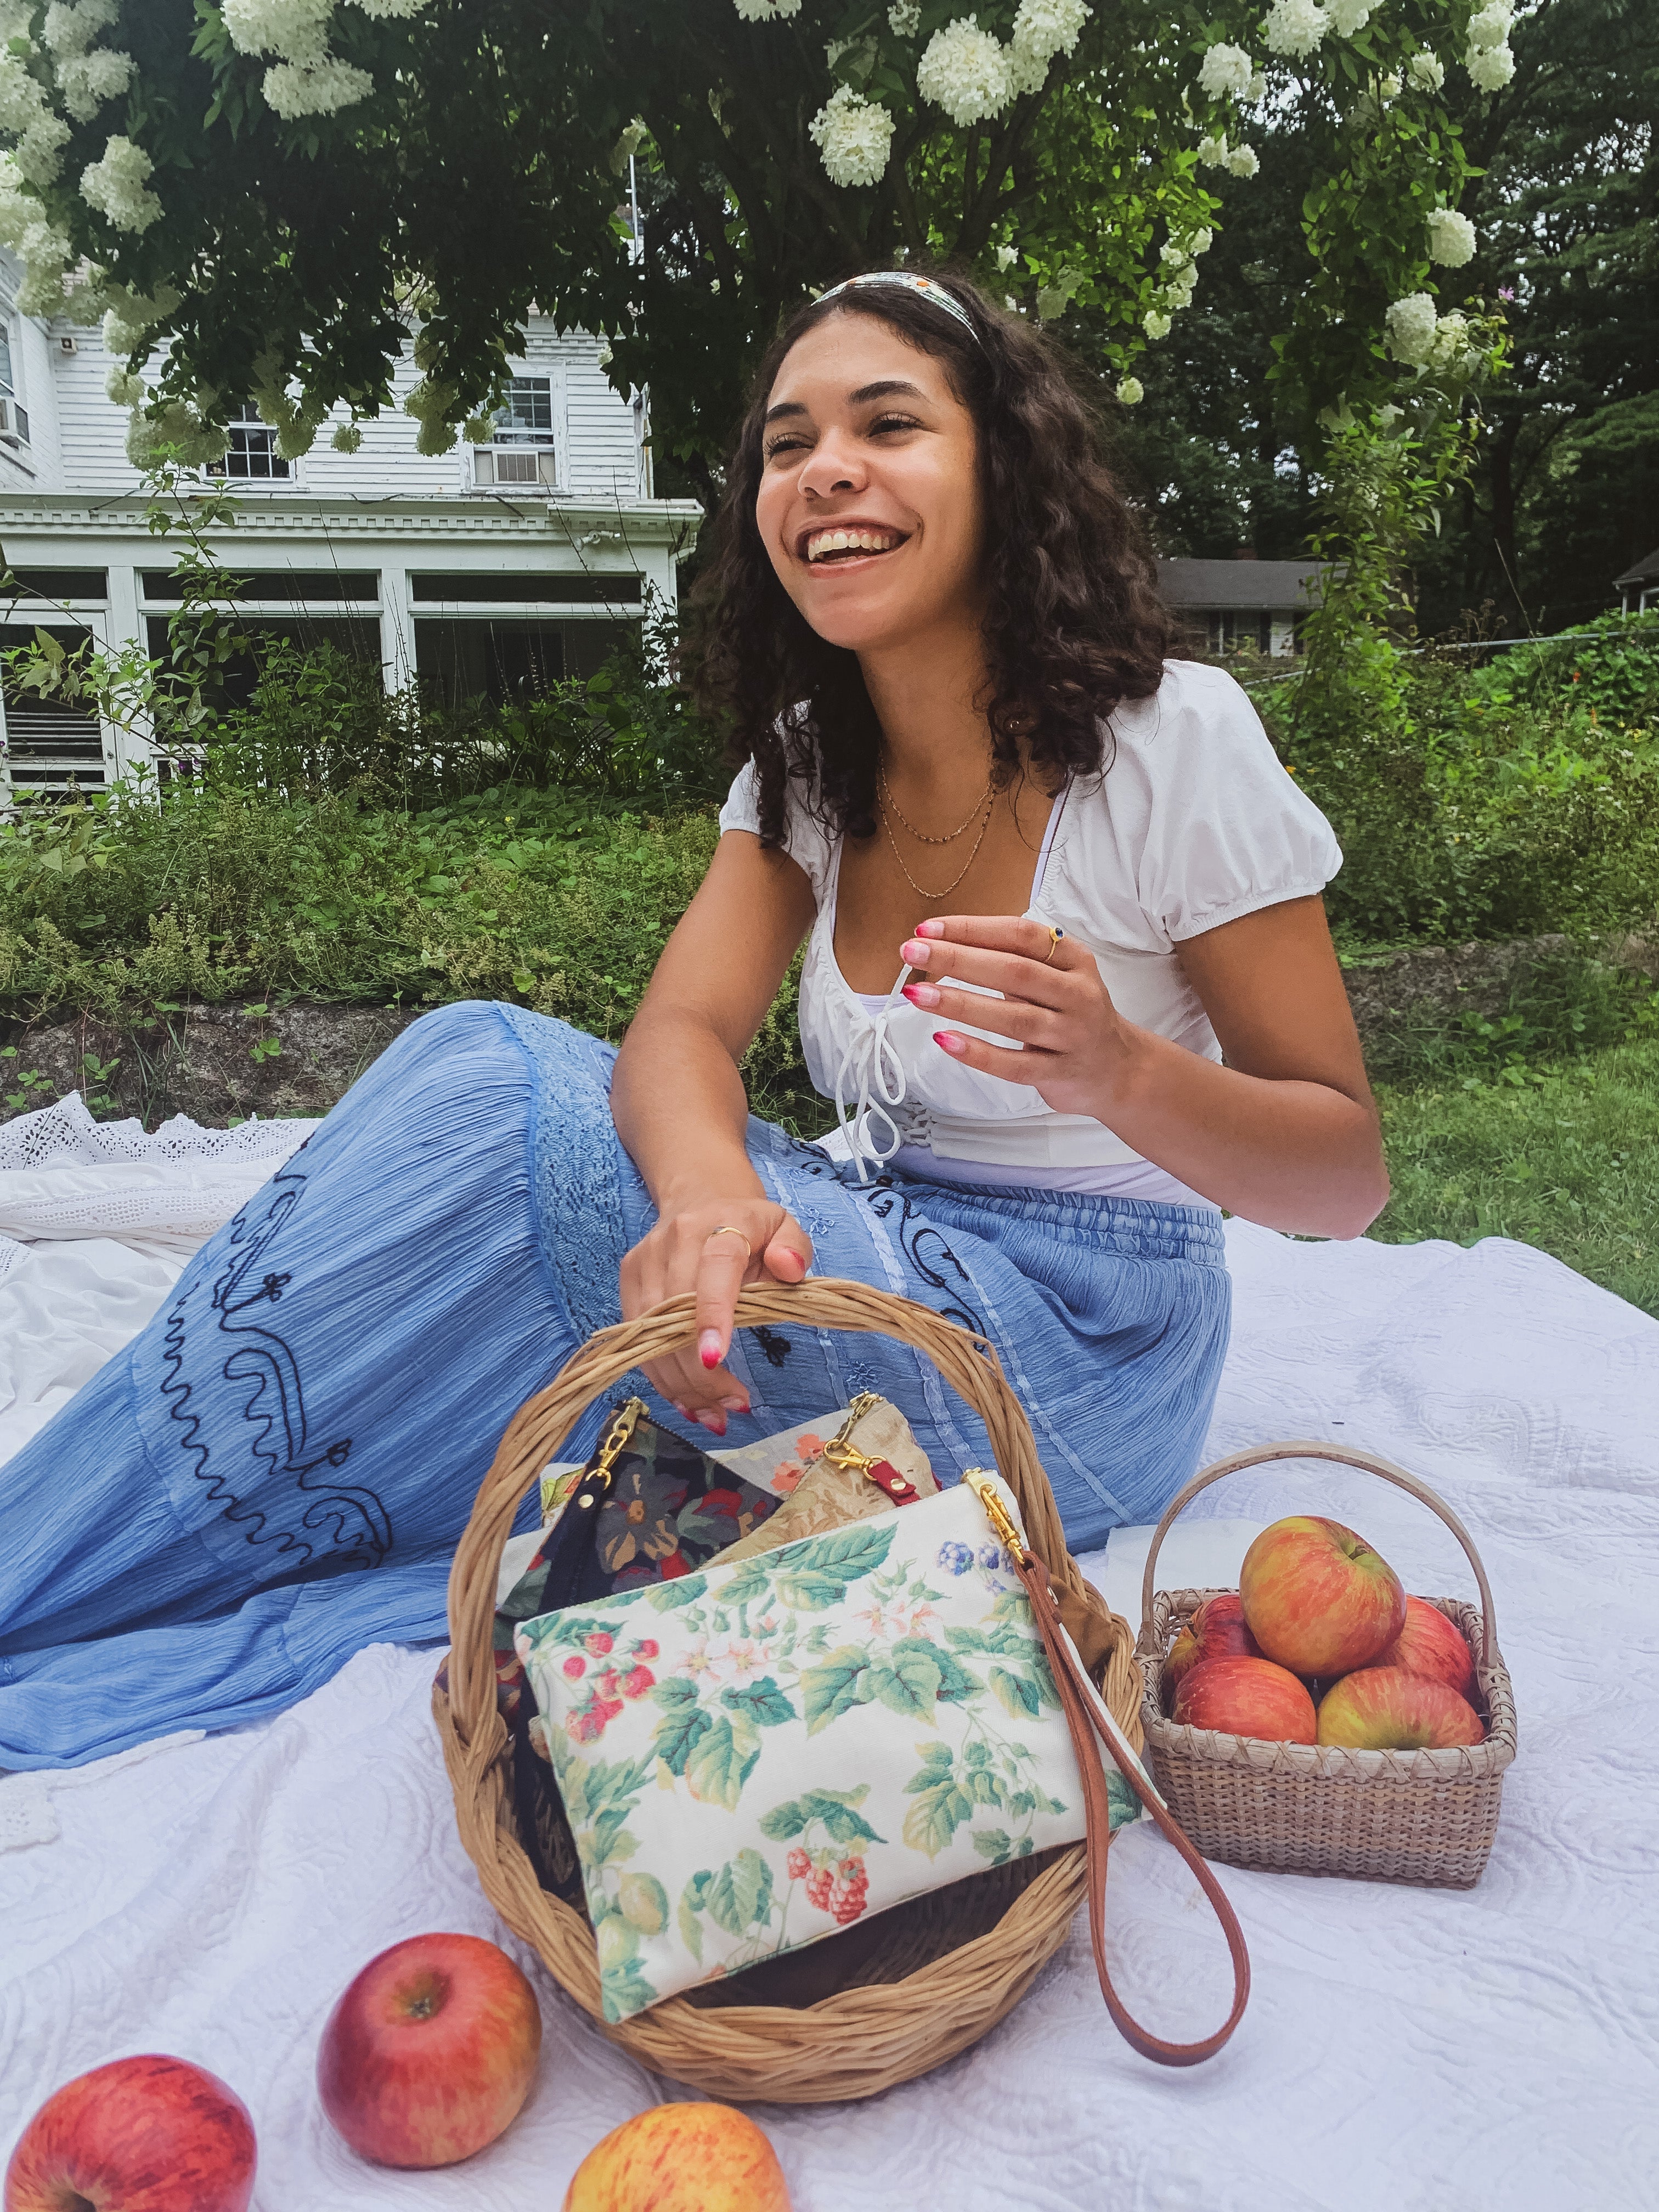
<path fill-rule="evenodd" d="M 783 356 L 761 451 L 761 542 L 823 639 L 863 655 L 978 628 L 975 431 L 942 361 L 832 314 Z"/>

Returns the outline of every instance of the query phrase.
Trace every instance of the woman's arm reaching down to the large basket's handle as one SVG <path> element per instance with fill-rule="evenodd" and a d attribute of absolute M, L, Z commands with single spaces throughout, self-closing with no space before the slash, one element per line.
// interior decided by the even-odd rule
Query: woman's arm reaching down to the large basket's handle
<path fill-rule="evenodd" d="M 657 1203 L 657 1225 L 622 1261 L 622 1312 L 633 1318 L 697 1292 L 697 1352 L 646 1371 L 717 1433 L 728 1411 L 748 1405 L 721 1365 L 739 1287 L 763 1274 L 799 1283 L 812 1265 L 810 1239 L 748 1161 L 739 1075 L 812 911 L 812 885 L 794 860 L 763 852 L 745 830 L 728 832 L 664 947 L 611 1086 L 617 1135 Z"/>

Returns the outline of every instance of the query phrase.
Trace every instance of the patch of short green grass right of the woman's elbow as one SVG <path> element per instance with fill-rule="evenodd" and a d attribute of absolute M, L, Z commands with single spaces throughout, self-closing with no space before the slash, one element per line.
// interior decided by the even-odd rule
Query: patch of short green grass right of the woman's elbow
<path fill-rule="evenodd" d="M 1380 1086 L 1394 1197 L 1374 1228 L 1513 1237 L 1659 1316 L 1659 1040 L 1506 1084 Z"/>

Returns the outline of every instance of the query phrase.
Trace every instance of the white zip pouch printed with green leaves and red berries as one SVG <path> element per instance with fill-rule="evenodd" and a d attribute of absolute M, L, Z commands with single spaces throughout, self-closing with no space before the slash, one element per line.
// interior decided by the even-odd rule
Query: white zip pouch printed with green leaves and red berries
<path fill-rule="evenodd" d="M 1084 1834 L 1031 1604 L 967 1484 L 524 1621 L 518 1655 L 613 2022 Z M 1106 1776 L 1119 1827 L 1139 1807 Z"/>

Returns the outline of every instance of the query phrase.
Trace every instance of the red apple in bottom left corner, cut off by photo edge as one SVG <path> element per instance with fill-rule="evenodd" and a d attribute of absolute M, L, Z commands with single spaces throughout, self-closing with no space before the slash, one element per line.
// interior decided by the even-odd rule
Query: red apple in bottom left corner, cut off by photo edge
<path fill-rule="evenodd" d="M 219 2075 L 159 2053 L 95 2066 L 29 2121 L 4 2212 L 248 2212 L 254 2124 Z"/>

